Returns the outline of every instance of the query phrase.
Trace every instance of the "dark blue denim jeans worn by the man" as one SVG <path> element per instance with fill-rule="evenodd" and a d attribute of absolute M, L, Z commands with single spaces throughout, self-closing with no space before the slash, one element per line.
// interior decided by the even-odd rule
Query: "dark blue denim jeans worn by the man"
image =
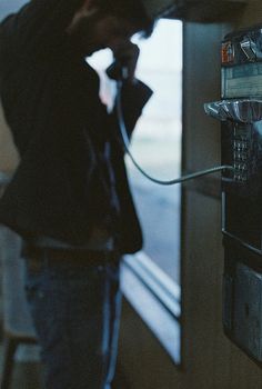
<path fill-rule="evenodd" d="M 48 389 L 110 389 L 121 293 L 119 265 L 26 259 L 26 293 Z"/>

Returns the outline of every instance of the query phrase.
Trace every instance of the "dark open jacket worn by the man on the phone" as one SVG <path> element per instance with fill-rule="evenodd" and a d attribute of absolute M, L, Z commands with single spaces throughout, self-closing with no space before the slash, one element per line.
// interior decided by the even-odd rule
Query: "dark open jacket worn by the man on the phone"
<path fill-rule="evenodd" d="M 0 24 L 0 93 L 21 162 L 0 201 L 0 221 L 26 239 L 83 245 L 110 207 L 100 152 L 112 148 L 122 252 L 141 248 L 115 112 L 99 99 L 99 78 L 64 30 L 82 0 L 31 0 Z M 151 91 L 125 84 L 131 133 Z"/>

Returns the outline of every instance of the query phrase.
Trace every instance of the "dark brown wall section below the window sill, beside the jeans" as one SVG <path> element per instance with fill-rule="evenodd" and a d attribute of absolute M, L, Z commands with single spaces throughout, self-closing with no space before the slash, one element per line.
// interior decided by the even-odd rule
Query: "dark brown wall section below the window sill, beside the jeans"
<path fill-rule="evenodd" d="M 183 389 L 187 388 L 184 378 L 124 300 L 113 389 Z"/>

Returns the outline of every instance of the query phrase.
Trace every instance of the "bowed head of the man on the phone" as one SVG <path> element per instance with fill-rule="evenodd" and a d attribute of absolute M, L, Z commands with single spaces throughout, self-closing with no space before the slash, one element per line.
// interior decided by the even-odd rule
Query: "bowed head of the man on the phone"
<path fill-rule="evenodd" d="M 88 56 L 103 48 L 114 51 L 137 32 L 147 38 L 153 24 L 139 0 L 84 0 L 68 32 Z"/>

